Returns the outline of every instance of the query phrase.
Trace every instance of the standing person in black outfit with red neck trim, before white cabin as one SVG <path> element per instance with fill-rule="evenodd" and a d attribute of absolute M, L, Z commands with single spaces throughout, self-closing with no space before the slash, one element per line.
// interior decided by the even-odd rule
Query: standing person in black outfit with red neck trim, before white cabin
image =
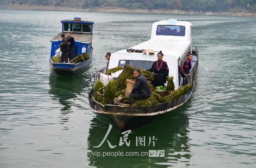
<path fill-rule="evenodd" d="M 166 76 L 169 74 L 169 68 L 165 61 L 163 61 L 164 54 L 162 51 L 157 54 L 157 61 L 152 64 L 152 67 L 148 70 L 154 72 L 153 86 L 164 86 L 166 83 Z"/>

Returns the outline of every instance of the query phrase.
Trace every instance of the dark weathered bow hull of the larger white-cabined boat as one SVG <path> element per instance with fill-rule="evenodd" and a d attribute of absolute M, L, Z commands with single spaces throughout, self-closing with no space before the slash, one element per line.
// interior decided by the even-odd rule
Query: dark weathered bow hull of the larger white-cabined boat
<path fill-rule="evenodd" d="M 107 116 L 120 128 L 120 130 L 127 130 L 138 128 L 162 116 L 162 114 L 165 114 L 166 112 L 170 112 L 175 108 L 182 106 L 182 104 L 184 104 L 190 98 L 192 91 L 193 87 L 187 94 L 181 96 L 180 98 L 154 106 L 123 107 L 116 105 L 98 104 L 92 99 L 91 95 L 94 90 L 91 90 L 89 94 L 89 102 L 91 110 L 95 114 Z"/>

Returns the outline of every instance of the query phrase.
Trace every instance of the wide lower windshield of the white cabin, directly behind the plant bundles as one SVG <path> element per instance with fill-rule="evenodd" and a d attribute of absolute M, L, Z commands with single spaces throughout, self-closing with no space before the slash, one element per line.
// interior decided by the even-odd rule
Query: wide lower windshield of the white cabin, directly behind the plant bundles
<path fill-rule="evenodd" d="M 151 68 L 154 61 L 140 61 L 140 60 L 119 60 L 118 66 L 124 67 L 125 64 L 129 64 L 134 68 L 142 68 L 147 70 Z"/>

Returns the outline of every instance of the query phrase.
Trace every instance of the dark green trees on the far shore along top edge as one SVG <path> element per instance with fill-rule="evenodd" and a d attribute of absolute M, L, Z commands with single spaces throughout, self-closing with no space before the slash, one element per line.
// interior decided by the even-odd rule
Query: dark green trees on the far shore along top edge
<path fill-rule="evenodd" d="M 125 8 L 130 10 L 184 10 L 202 12 L 256 12 L 256 0 L 12 0 L 12 4 L 71 8 Z"/>

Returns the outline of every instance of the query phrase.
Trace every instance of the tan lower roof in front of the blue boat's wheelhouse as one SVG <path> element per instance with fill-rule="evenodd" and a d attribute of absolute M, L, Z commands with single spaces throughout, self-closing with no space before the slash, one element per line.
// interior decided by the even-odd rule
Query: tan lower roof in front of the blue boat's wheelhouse
<path fill-rule="evenodd" d="M 58 41 L 62 40 L 61 37 L 62 33 L 59 33 L 57 36 L 55 36 L 51 41 Z M 65 37 L 68 36 L 68 33 L 64 33 Z M 71 33 L 71 36 L 75 39 L 75 41 L 80 41 L 80 42 L 92 42 L 92 34 L 84 34 L 84 33 Z"/>

